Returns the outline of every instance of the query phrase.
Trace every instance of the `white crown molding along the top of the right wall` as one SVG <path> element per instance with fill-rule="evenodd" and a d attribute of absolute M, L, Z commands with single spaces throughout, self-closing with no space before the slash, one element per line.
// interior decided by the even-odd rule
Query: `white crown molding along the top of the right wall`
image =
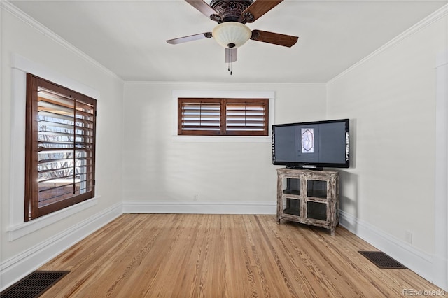
<path fill-rule="evenodd" d="M 392 48 L 393 46 L 397 45 L 401 41 L 404 41 L 406 38 L 409 38 L 410 36 L 416 34 L 421 29 L 428 27 L 430 24 L 433 24 L 433 22 L 440 20 L 440 18 L 442 18 L 446 15 L 448 15 L 448 4 L 442 6 L 438 10 L 435 10 L 435 12 L 428 15 L 428 17 L 425 17 L 420 22 L 417 22 L 416 24 L 414 24 L 414 26 L 410 27 L 406 31 L 403 31 L 398 36 L 395 36 L 395 38 L 391 39 L 391 41 L 388 41 L 388 43 L 382 45 L 380 48 L 378 48 L 377 50 L 372 52 L 370 55 L 367 55 L 365 58 L 360 59 L 360 61 L 356 62 L 356 64 L 353 64 L 348 69 L 346 69 L 345 71 L 342 71 L 342 73 L 339 73 L 339 75 L 335 76 L 335 78 L 332 78 L 331 80 L 329 80 L 325 85 L 328 86 L 328 85 L 334 83 L 336 80 L 338 80 L 339 78 L 342 78 L 343 76 L 345 76 L 347 73 L 349 73 L 353 69 L 356 69 L 358 66 L 364 64 L 365 62 L 376 57 L 377 55 L 380 55 L 382 52 L 388 50 L 389 48 Z"/>

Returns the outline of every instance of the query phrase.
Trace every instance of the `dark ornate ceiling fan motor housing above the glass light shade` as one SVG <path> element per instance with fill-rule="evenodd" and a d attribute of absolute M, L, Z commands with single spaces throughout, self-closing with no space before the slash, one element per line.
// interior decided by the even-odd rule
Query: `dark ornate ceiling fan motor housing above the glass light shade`
<path fill-rule="evenodd" d="M 253 0 L 212 0 L 210 6 L 221 16 L 219 18 L 220 20 L 216 20 L 217 22 L 240 22 L 246 24 L 246 18 L 242 13 L 246 8 L 251 6 L 252 3 Z"/>

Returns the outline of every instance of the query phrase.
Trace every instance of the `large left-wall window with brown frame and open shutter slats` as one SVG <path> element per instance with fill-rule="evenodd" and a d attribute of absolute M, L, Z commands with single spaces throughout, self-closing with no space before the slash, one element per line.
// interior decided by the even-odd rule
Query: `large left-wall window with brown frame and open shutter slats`
<path fill-rule="evenodd" d="M 94 197 L 97 101 L 27 73 L 25 221 Z"/>

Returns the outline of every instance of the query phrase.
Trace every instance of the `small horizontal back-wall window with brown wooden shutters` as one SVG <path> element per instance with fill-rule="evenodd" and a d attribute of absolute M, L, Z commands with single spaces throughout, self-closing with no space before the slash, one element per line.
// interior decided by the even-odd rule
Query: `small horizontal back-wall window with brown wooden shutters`
<path fill-rule="evenodd" d="M 268 136 L 269 99 L 178 98 L 177 134 Z"/>

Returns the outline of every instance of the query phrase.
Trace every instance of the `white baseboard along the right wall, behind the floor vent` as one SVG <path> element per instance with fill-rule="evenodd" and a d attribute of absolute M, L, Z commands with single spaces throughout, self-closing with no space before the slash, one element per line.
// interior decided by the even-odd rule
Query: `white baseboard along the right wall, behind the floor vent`
<path fill-rule="evenodd" d="M 393 257 L 407 268 L 431 283 L 434 282 L 434 257 L 423 253 L 405 241 L 386 234 L 367 222 L 358 220 L 353 215 L 339 211 L 339 225 L 367 241 L 372 246 Z M 440 286 L 440 285 L 439 285 Z M 446 290 L 446 289 L 444 289 Z"/>

